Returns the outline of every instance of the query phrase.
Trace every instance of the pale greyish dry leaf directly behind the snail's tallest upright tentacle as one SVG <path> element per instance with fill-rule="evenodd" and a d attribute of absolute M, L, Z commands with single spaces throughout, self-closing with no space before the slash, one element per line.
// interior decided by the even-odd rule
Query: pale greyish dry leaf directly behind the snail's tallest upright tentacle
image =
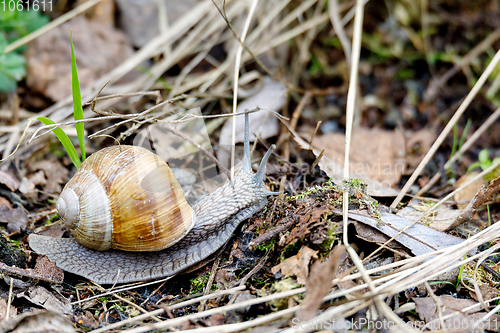
<path fill-rule="evenodd" d="M 270 79 L 264 80 L 262 89 L 255 95 L 245 99 L 238 104 L 236 109 L 237 113 L 245 110 L 255 109 L 260 107 L 262 111 L 249 114 L 250 121 L 250 141 L 255 140 L 257 135 L 260 139 L 264 140 L 278 134 L 278 119 L 270 112 L 264 111 L 274 110 L 278 111 L 285 104 L 287 88 L 280 82 L 275 82 Z M 233 133 L 233 120 L 236 120 L 236 143 L 243 142 L 245 135 L 245 117 L 231 117 L 222 126 L 219 138 L 219 145 L 221 147 L 232 146 L 232 133 Z M 220 149 L 218 152 L 219 162 L 229 168 L 230 163 L 230 149 Z"/>

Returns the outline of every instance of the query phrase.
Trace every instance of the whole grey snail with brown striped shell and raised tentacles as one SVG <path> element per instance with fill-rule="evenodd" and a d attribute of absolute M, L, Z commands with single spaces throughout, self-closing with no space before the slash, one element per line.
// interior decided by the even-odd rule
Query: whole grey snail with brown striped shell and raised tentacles
<path fill-rule="evenodd" d="M 57 209 L 72 238 L 31 234 L 30 247 L 63 270 L 101 284 L 146 281 L 201 267 L 270 192 L 266 163 L 250 163 L 245 114 L 243 166 L 190 207 L 168 165 L 134 146 L 104 148 L 82 163 Z M 87 222 L 90 222 L 87 223 Z"/>

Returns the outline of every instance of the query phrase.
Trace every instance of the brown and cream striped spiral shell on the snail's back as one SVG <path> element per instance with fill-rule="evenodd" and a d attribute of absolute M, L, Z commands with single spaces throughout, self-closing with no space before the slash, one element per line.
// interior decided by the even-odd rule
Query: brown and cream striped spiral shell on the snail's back
<path fill-rule="evenodd" d="M 57 210 L 71 235 L 98 251 L 162 250 L 196 221 L 169 166 L 134 146 L 92 154 L 64 187 Z"/>

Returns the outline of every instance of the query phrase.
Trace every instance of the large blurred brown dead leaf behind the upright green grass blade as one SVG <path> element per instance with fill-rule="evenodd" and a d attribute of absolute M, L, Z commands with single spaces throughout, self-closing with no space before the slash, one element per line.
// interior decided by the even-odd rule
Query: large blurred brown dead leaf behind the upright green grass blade
<path fill-rule="evenodd" d="M 25 53 L 26 83 L 54 101 L 71 96 L 70 29 L 82 90 L 133 53 L 123 33 L 81 15 L 44 33 L 29 43 Z"/>

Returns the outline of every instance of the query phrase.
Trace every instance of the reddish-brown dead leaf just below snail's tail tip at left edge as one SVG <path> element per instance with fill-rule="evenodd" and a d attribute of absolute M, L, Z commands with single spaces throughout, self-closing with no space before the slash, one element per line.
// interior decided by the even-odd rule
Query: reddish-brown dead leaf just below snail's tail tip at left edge
<path fill-rule="evenodd" d="M 46 256 L 39 256 L 35 268 L 33 269 L 22 269 L 0 263 L 0 273 L 20 278 L 27 277 L 50 283 L 62 283 L 64 280 L 63 270 L 58 268 L 54 263 L 51 263 Z"/>

